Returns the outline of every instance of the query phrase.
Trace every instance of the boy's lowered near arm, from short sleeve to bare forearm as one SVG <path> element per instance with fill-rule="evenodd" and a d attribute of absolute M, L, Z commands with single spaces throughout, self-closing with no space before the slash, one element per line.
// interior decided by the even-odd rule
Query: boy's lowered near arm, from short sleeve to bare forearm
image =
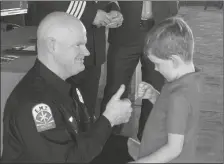
<path fill-rule="evenodd" d="M 156 152 L 134 163 L 167 163 L 178 157 L 184 144 L 189 106 L 182 96 L 172 96 L 167 115 L 168 142 Z"/>

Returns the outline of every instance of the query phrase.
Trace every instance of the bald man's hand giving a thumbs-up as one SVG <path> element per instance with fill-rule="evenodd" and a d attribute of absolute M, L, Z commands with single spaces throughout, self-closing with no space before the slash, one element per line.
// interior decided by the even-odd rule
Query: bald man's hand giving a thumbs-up
<path fill-rule="evenodd" d="M 113 95 L 106 106 L 103 115 L 110 121 L 111 126 L 119 125 L 129 121 L 132 113 L 129 99 L 121 100 L 120 97 L 125 91 L 125 86 L 121 85 L 117 93 Z"/>

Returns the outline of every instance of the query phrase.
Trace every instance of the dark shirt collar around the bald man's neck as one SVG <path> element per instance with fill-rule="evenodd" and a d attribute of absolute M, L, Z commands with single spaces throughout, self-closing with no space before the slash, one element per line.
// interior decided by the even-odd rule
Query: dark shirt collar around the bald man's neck
<path fill-rule="evenodd" d="M 36 59 L 34 69 L 48 84 L 52 85 L 61 94 L 68 96 L 71 85 L 48 69 L 39 59 Z"/>

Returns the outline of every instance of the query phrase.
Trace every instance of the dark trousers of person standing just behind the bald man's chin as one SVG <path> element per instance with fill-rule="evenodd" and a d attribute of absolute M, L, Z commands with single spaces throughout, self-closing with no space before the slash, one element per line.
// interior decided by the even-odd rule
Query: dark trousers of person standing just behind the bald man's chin
<path fill-rule="evenodd" d="M 101 74 L 101 65 L 86 66 L 83 72 L 72 76 L 67 81 L 74 87 L 78 87 L 90 116 L 97 113 L 95 111 L 99 80 Z"/>

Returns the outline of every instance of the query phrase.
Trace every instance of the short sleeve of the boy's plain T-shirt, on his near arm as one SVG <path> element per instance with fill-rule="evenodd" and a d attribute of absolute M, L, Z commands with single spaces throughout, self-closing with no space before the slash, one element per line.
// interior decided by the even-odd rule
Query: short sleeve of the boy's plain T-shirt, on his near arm
<path fill-rule="evenodd" d="M 189 105 L 183 96 L 170 98 L 167 116 L 168 133 L 184 134 L 188 121 Z"/>

